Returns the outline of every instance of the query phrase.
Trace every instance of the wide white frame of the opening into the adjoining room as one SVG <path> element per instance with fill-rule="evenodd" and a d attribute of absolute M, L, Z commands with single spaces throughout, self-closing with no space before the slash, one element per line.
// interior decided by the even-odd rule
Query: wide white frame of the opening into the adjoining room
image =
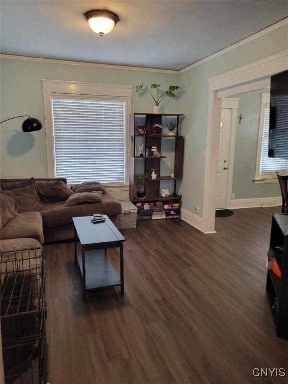
<path fill-rule="evenodd" d="M 208 79 L 208 127 L 206 140 L 206 164 L 203 201 L 203 232 L 215 232 L 215 206 L 216 206 L 216 168 L 219 152 L 220 122 L 222 98 L 218 92 L 229 89 L 229 96 L 243 92 L 243 87 L 249 88 L 258 83 L 257 89 L 262 89 L 263 80 L 268 80 L 273 74 L 288 69 L 288 50 L 255 61 L 251 64 L 220 74 Z M 239 89 L 241 91 L 239 92 Z M 226 93 L 226 95 L 228 95 Z M 220 98 L 218 98 L 220 97 Z"/>

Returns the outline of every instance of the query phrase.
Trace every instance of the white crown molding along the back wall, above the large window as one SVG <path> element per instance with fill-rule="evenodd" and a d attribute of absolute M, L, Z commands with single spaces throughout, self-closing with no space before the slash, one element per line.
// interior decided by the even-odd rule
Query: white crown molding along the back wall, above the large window
<path fill-rule="evenodd" d="M 43 63 L 48 63 L 48 64 L 85 66 L 85 67 L 90 67 L 90 68 L 134 70 L 134 71 L 139 71 L 139 72 L 155 72 L 155 73 L 168 73 L 168 74 L 177 74 L 178 73 L 177 70 L 172 70 L 172 69 L 156 69 L 156 68 L 143 68 L 143 67 L 139 67 L 139 66 L 128 66 L 128 65 L 99 64 L 96 62 L 68 61 L 68 60 L 58 60 L 58 59 L 54 59 L 54 58 L 18 56 L 18 55 L 14 55 L 14 54 L 2 54 L 1 53 L 0 58 L 10 59 L 10 60 L 43 62 Z"/>

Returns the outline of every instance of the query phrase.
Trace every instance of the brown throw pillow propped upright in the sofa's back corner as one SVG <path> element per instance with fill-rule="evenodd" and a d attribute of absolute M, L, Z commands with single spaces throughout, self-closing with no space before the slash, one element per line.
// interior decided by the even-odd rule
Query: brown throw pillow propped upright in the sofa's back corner
<path fill-rule="evenodd" d="M 36 185 L 13 190 L 2 190 L 2 195 L 9 196 L 17 201 L 18 212 L 34 212 L 43 207 L 40 202 Z"/>

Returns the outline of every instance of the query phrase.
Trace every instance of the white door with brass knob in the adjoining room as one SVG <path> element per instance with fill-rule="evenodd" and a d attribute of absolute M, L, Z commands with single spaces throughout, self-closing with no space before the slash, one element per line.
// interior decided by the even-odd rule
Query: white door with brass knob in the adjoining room
<path fill-rule="evenodd" d="M 220 146 L 217 167 L 216 209 L 227 208 L 227 184 L 229 172 L 229 151 L 232 109 L 222 109 Z"/>

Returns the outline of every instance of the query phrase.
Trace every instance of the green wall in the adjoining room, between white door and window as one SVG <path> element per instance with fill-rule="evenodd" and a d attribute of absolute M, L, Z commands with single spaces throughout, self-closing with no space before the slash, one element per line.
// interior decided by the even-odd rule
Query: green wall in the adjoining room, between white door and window
<path fill-rule="evenodd" d="M 237 124 L 235 142 L 235 161 L 233 188 L 235 198 L 256 198 L 280 196 L 279 184 L 254 184 L 258 129 L 261 107 L 261 93 L 269 93 L 269 89 L 242 93 L 235 97 L 239 101 L 239 113 L 244 116 L 241 124 Z"/>

